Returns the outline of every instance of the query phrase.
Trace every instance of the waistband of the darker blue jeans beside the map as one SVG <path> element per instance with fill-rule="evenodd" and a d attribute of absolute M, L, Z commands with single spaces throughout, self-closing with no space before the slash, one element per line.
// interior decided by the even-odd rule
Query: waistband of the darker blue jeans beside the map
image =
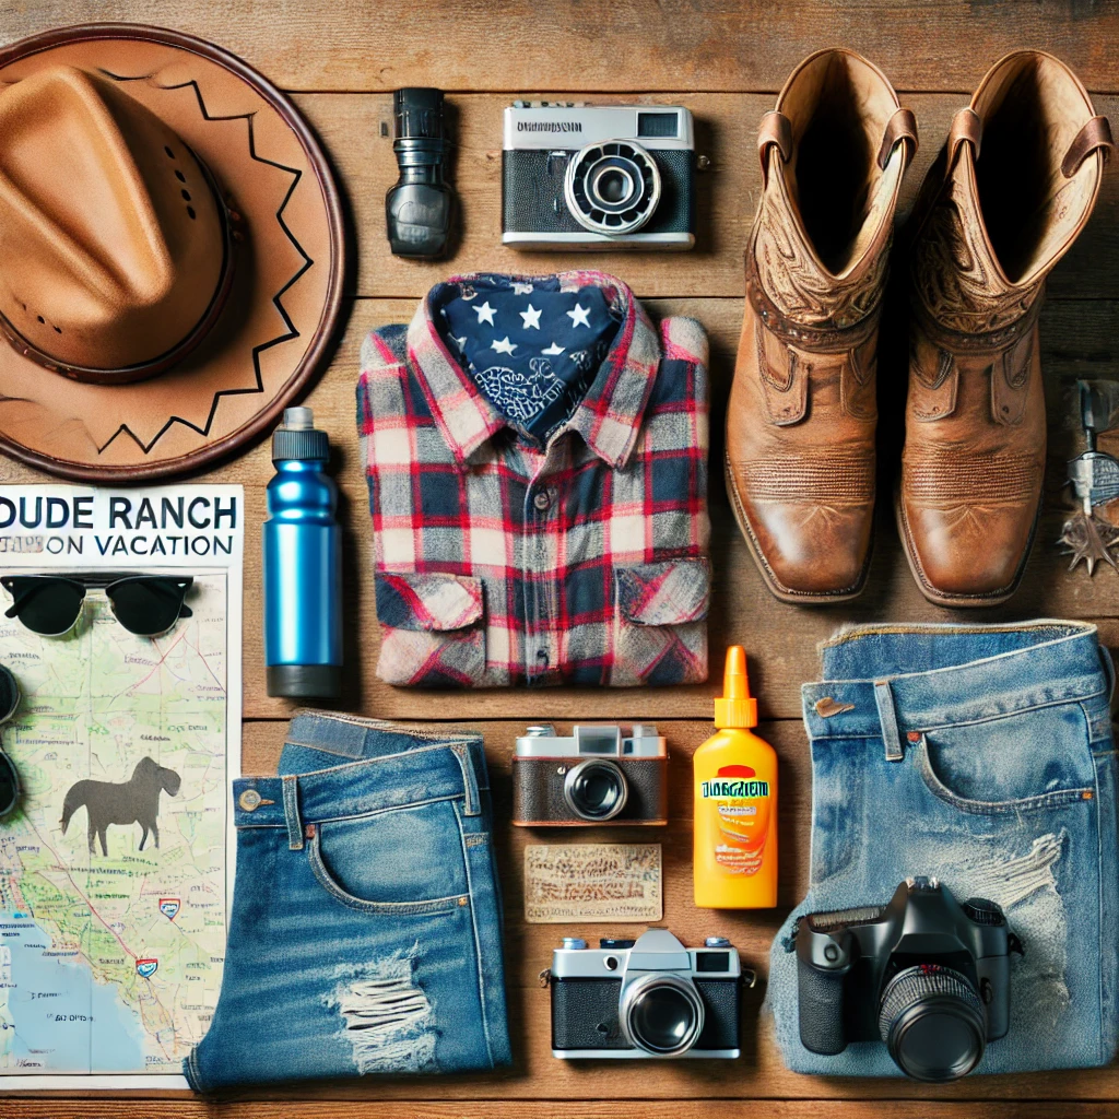
<path fill-rule="evenodd" d="M 461 797 L 464 814 L 478 816 L 480 793 L 489 789 L 481 736 L 469 732 L 300 714 L 288 741 L 337 753 L 339 764 L 313 773 L 238 778 L 233 802 L 236 827 L 286 828 L 292 846 L 299 846 L 307 824 L 432 800 Z"/>

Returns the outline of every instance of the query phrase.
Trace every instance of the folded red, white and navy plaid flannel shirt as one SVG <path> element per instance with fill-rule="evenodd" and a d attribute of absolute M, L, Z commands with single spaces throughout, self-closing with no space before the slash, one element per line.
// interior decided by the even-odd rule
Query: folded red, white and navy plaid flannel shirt
<path fill-rule="evenodd" d="M 452 356 L 433 311 L 446 285 L 361 348 L 377 673 L 389 684 L 707 678 L 706 336 L 685 318 L 658 331 L 611 276 L 558 280 L 601 288 L 620 326 L 545 445 Z"/>

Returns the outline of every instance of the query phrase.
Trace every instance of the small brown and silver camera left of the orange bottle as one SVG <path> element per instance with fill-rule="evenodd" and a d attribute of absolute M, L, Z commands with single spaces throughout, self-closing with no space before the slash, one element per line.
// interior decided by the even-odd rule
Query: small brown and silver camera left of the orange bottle
<path fill-rule="evenodd" d="M 513 822 L 667 824 L 668 747 L 655 726 L 576 726 L 561 737 L 551 723 L 517 739 Z"/>

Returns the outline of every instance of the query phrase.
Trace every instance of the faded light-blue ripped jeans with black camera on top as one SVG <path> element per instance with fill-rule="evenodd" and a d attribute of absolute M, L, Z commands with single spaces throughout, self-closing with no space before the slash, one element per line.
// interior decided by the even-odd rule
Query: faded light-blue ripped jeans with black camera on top
<path fill-rule="evenodd" d="M 1116 1050 L 1113 675 L 1096 627 L 872 626 L 802 689 L 812 753 L 808 896 L 773 942 L 768 1002 L 796 1072 L 900 1075 L 881 1042 L 800 1044 L 796 919 L 884 904 L 913 875 L 1003 905 L 1010 1029 L 979 1072 L 1106 1064 Z M 863 997 L 874 994 L 862 993 Z"/>

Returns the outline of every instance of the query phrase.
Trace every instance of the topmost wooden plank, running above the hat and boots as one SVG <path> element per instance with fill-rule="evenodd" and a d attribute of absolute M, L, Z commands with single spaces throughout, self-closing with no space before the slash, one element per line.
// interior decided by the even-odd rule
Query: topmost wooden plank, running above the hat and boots
<path fill-rule="evenodd" d="M 176 27 L 288 90 L 775 91 L 805 55 L 843 44 L 899 86 L 971 90 L 1006 51 L 1043 47 L 1090 90 L 1119 92 L 1107 0 L 6 0 L 16 39 L 93 19 Z"/>

